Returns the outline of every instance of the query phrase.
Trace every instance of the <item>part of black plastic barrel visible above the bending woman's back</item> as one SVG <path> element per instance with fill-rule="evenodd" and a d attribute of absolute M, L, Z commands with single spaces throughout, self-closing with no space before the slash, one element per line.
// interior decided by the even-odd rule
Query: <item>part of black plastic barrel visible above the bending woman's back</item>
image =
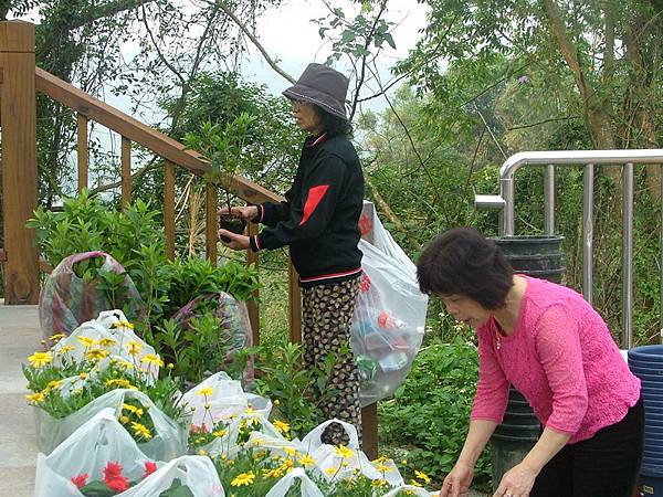
<path fill-rule="evenodd" d="M 561 283 L 564 236 L 512 235 L 493 241 L 517 273 Z"/>

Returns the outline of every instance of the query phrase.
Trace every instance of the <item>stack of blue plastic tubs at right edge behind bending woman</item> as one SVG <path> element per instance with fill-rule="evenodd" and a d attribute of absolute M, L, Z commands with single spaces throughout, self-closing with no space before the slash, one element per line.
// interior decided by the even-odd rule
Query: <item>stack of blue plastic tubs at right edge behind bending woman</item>
<path fill-rule="evenodd" d="M 663 346 L 629 350 L 629 368 L 640 378 L 644 402 L 640 495 L 663 497 Z"/>

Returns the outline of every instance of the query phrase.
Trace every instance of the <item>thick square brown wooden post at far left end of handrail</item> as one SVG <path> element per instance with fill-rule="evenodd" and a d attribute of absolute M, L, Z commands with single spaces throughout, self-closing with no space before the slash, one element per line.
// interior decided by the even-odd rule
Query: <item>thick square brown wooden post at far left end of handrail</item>
<path fill-rule="evenodd" d="M 2 66 L 2 202 L 4 304 L 36 304 L 39 253 L 25 221 L 36 209 L 36 99 L 34 25 L 0 22 Z"/>

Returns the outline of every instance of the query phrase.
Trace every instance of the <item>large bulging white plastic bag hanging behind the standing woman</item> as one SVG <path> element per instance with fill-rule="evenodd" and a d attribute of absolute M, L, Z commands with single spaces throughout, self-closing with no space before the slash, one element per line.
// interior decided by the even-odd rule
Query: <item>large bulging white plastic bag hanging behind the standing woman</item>
<path fill-rule="evenodd" d="M 417 267 L 377 216 L 370 235 L 372 244 L 359 242 L 364 274 L 351 338 L 362 406 L 390 395 L 406 380 L 421 347 L 428 308 Z"/>

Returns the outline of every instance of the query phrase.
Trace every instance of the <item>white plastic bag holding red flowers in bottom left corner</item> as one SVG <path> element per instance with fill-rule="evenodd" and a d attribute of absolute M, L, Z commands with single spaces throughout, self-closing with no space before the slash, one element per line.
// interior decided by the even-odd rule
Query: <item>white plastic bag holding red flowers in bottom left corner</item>
<path fill-rule="evenodd" d="M 71 478 L 86 475 L 86 482 L 102 480 L 108 463 L 119 463 L 122 475 L 129 480 L 143 478 L 118 497 L 155 497 L 167 490 L 177 478 L 194 497 L 224 497 L 214 465 L 208 457 L 182 456 L 168 464 L 159 463 L 147 477 L 148 457 L 115 419 L 112 409 L 97 413 L 81 426 L 50 456 L 39 454 L 35 497 L 83 496 Z"/>

